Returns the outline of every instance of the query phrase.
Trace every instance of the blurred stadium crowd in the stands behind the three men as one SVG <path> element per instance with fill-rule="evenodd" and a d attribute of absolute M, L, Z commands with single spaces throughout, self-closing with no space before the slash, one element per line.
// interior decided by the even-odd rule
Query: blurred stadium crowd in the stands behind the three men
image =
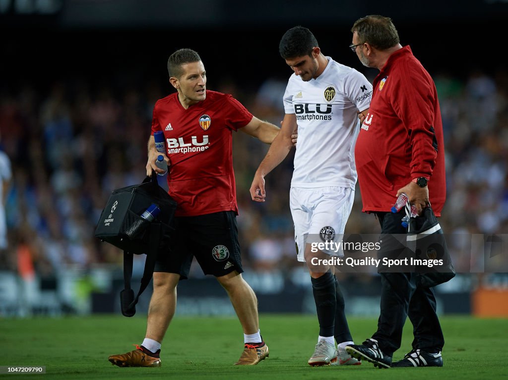
<path fill-rule="evenodd" d="M 508 122 L 502 116 L 508 113 L 508 72 L 433 77 L 447 157 L 441 226 L 447 233 L 507 233 Z M 279 125 L 285 80 L 269 78 L 251 94 L 232 81 L 210 89 L 232 93 L 254 115 Z M 113 189 L 145 178 L 152 108 L 171 92 L 169 85 L 153 80 L 125 90 L 71 77 L 48 88 L 0 91 L 0 143 L 12 163 L 5 189 L 9 244 L 0 267 L 21 277 L 50 277 L 70 267 L 121 268 L 122 252 L 101 243 L 94 228 Z M 267 176 L 267 201 L 258 204 L 248 189 L 268 146 L 235 133 L 233 148 L 246 270 L 298 265 L 289 209 L 294 151 Z M 377 233 L 374 216 L 361 213 L 358 187 L 355 199 L 346 233 Z"/>

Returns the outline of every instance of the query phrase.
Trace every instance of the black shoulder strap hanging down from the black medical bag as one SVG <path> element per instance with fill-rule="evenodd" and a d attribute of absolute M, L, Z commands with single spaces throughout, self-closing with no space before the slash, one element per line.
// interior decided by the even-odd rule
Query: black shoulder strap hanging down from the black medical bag
<path fill-rule="evenodd" d="M 124 289 L 120 292 L 120 307 L 122 315 L 125 317 L 132 317 L 136 314 L 136 303 L 138 303 L 139 296 L 146 289 L 153 277 L 153 269 L 155 268 L 155 260 L 157 259 L 158 247 L 161 241 L 161 224 L 150 223 L 149 228 L 150 241 L 148 251 L 146 252 L 145 269 L 136 298 L 134 297 L 134 290 L 131 289 L 134 256 L 128 251 L 123 251 Z"/>

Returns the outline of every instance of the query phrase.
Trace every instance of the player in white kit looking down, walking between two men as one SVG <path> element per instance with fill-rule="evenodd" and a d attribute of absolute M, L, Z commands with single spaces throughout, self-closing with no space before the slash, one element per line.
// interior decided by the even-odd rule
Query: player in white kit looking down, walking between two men
<path fill-rule="evenodd" d="M 361 364 L 344 350 L 353 338 L 333 265 L 319 261 L 343 256 L 343 252 L 330 246 L 320 251 L 311 244 L 337 243 L 336 238 L 340 240 L 344 233 L 357 181 L 354 146 L 360 131 L 358 114 L 367 114 L 372 85 L 360 72 L 323 55 L 305 27 L 285 32 L 279 52 L 294 75 L 284 93 L 285 116 L 280 132 L 256 171 L 250 195 L 254 201 L 265 201 L 265 176 L 288 155 L 293 146 L 292 133 L 298 128 L 291 214 L 298 261 L 305 261 L 309 268 L 320 324 L 308 364 Z"/>

